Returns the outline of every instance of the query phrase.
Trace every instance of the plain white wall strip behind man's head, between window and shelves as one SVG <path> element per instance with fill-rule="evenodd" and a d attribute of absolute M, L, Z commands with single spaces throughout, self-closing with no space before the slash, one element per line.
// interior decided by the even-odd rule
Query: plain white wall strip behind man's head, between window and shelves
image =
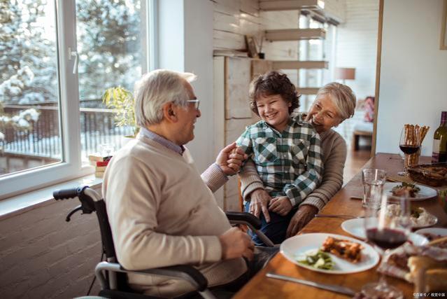
<path fill-rule="evenodd" d="M 160 69 L 188 71 L 200 99 L 201 118 L 190 148 L 199 172 L 215 160 L 213 153 L 213 2 L 210 0 L 159 1 Z"/>

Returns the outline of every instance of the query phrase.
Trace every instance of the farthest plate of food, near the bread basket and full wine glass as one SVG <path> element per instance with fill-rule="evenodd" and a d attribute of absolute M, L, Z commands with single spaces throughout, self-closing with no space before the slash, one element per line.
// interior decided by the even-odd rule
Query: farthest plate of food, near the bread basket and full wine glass
<path fill-rule="evenodd" d="M 410 200 L 427 200 L 438 196 L 437 190 L 414 183 L 385 183 L 383 186 L 383 194 L 390 197 L 398 198 L 406 193 Z"/>

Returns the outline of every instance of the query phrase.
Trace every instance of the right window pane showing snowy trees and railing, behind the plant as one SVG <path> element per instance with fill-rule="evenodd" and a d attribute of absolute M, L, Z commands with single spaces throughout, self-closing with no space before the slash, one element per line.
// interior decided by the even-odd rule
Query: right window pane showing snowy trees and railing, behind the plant
<path fill-rule="evenodd" d="M 117 127 L 115 113 L 101 97 L 107 88 L 129 91 L 141 77 L 141 1 L 77 0 L 76 36 L 79 55 L 81 158 L 101 151 L 101 144 L 115 148 L 132 127 Z"/>

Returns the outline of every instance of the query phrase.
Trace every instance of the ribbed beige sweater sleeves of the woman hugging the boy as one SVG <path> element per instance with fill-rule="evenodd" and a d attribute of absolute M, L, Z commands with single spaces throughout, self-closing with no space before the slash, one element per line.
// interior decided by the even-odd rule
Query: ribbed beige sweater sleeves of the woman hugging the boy
<path fill-rule="evenodd" d="M 334 130 L 320 133 L 322 162 L 325 167 L 322 182 L 301 202 L 317 207 L 318 211 L 329 202 L 343 185 L 343 168 L 346 162 L 346 142 Z M 264 188 L 260 176 L 256 172 L 255 164 L 249 160 L 243 165 L 239 173 L 241 179 L 241 193 L 244 200 L 249 200 L 253 190 Z"/>

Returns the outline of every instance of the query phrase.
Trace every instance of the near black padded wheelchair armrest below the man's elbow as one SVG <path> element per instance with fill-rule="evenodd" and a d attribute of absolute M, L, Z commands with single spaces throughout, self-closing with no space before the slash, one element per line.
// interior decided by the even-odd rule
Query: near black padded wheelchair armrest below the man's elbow
<path fill-rule="evenodd" d="M 103 271 L 113 271 L 113 272 L 124 272 L 124 273 L 134 273 L 134 274 L 148 274 L 148 275 L 159 275 L 165 277 L 174 277 L 178 279 L 183 279 L 189 281 L 194 288 L 201 292 L 208 288 L 208 280 L 201 274 L 199 270 L 190 265 L 175 265 L 169 267 L 159 267 L 146 270 L 126 270 L 118 263 L 101 262 L 95 268 L 95 273 L 101 287 L 106 286 L 106 280 Z"/>

